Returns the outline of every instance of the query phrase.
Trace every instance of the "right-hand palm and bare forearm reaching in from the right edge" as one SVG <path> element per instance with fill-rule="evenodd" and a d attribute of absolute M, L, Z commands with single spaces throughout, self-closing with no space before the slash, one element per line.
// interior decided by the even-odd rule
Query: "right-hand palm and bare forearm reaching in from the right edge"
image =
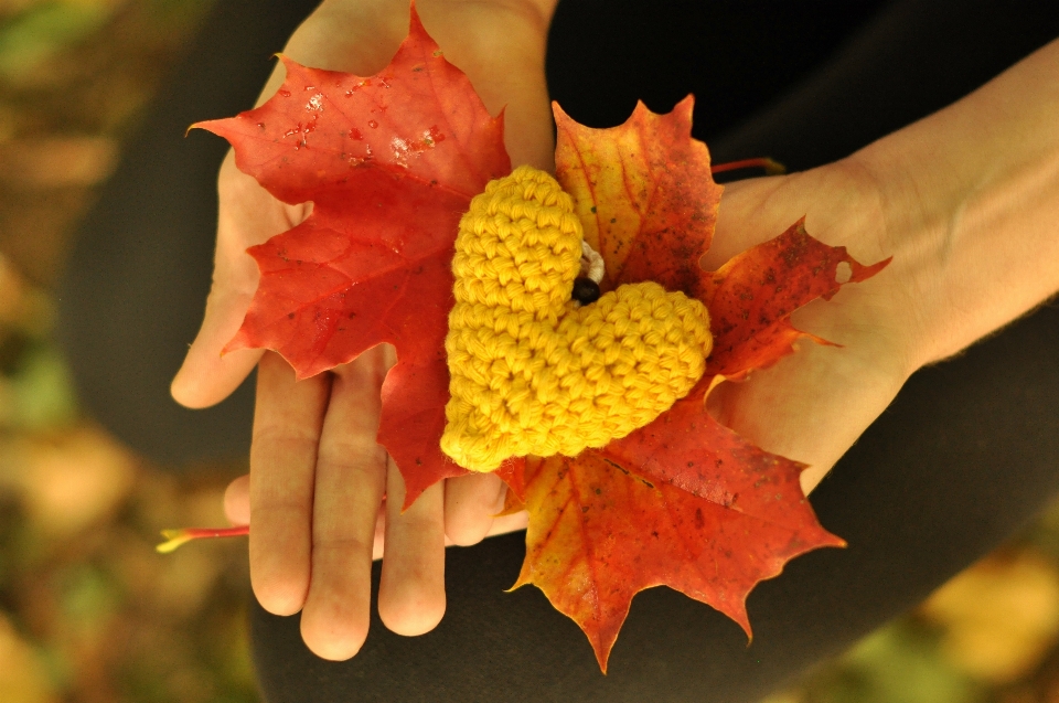
<path fill-rule="evenodd" d="M 809 492 L 911 373 L 1059 291 L 1059 41 L 948 108 L 836 163 L 728 187 L 715 269 L 806 213 L 806 230 L 876 277 L 814 301 L 796 328 L 843 344 L 718 386 L 710 412 L 810 468 Z"/>

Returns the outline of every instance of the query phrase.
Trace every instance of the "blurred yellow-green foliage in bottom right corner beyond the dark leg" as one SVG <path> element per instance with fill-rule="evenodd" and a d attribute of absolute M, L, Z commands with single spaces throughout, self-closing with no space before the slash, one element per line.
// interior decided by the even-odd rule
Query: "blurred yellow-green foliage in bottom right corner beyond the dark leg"
<path fill-rule="evenodd" d="M 1059 703 L 1059 502 L 913 613 L 762 703 Z"/>

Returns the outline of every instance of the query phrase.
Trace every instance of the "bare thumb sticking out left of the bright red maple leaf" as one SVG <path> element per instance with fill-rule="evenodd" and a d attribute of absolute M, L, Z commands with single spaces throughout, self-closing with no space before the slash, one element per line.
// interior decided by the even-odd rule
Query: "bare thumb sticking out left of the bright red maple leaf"
<path fill-rule="evenodd" d="M 257 263 L 246 249 L 289 230 L 306 212 L 280 203 L 252 177 L 239 172 L 232 151 L 221 166 L 217 190 L 221 204 L 213 285 L 202 327 L 170 386 L 173 398 L 188 407 L 207 407 L 223 401 L 257 364 L 259 349 L 222 355 L 239 331 L 257 289 Z"/>

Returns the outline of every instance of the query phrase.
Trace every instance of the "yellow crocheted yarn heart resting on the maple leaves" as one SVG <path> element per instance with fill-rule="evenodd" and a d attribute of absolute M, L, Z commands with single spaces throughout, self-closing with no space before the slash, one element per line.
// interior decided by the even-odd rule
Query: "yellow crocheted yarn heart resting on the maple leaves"
<path fill-rule="evenodd" d="M 570 300 L 581 232 L 571 198 L 528 166 L 490 182 L 460 221 L 441 437 L 460 466 L 603 447 L 703 375 L 713 340 L 698 300 L 655 283 Z"/>

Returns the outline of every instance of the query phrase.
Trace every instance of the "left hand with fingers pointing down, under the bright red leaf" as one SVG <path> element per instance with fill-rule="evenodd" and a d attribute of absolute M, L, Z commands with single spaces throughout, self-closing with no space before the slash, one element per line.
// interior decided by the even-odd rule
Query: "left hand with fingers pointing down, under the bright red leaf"
<path fill-rule="evenodd" d="M 555 0 L 417 3 L 425 26 L 468 74 L 490 113 L 506 105 L 505 143 L 514 164 L 552 168 L 544 49 L 554 6 Z M 407 28 L 405 0 L 328 0 L 285 53 L 307 65 L 372 75 L 389 62 Z M 280 66 L 264 98 L 281 82 Z M 235 168 L 232 152 L 221 167 L 218 192 L 213 288 L 172 394 L 189 407 L 213 405 L 258 368 L 250 473 L 232 484 L 226 501 L 236 522 L 254 525 L 254 593 L 270 613 L 301 610 L 302 637 L 317 654 L 347 659 L 367 635 L 371 561 L 384 537 L 379 616 L 398 633 L 428 631 L 445 611 L 443 544 L 471 544 L 488 534 L 505 489 L 491 475 L 453 479 L 400 513 L 404 482 L 375 443 L 379 388 L 394 362 L 389 347 L 301 382 L 271 352 L 221 356 L 257 287 L 257 267 L 246 248 L 300 223 L 311 205 L 272 199 Z"/>

